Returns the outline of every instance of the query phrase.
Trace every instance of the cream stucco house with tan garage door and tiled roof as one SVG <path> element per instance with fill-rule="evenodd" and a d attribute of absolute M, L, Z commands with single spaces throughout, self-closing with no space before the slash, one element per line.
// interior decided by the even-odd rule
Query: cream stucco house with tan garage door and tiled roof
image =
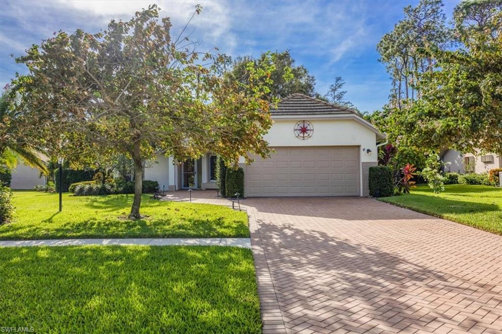
<path fill-rule="evenodd" d="M 245 196 L 368 196 L 368 168 L 377 165 L 376 147 L 385 140 L 357 112 L 302 94 L 292 94 L 271 110 L 274 121 L 265 139 L 272 156 L 239 165 Z M 176 163 L 159 156 L 145 170 L 160 189 L 216 189 L 216 156 Z"/>

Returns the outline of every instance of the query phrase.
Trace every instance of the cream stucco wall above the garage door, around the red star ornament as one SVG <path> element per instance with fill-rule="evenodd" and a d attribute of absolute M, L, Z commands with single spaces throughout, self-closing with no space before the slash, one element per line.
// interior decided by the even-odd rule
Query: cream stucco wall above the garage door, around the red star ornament
<path fill-rule="evenodd" d="M 306 119 L 312 123 L 314 133 L 306 140 L 299 139 L 293 132 L 295 124 L 302 119 L 275 119 L 269 133 L 265 135 L 270 146 L 335 146 L 360 145 L 361 162 L 376 162 L 376 134 L 354 120 Z M 364 148 L 364 152 L 362 149 Z M 366 153 L 366 149 L 371 154 Z"/>

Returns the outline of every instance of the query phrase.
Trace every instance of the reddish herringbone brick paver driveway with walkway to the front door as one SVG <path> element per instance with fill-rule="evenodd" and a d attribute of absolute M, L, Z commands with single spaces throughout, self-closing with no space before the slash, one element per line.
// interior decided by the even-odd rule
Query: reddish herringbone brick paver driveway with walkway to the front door
<path fill-rule="evenodd" d="M 215 194 L 192 197 L 225 204 Z M 366 198 L 241 205 L 265 333 L 502 330 L 500 236 Z"/>

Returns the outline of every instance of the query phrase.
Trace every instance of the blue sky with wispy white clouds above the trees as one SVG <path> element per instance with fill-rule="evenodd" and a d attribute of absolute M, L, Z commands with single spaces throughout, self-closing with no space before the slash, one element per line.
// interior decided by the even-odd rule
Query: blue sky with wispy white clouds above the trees
<path fill-rule="evenodd" d="M 403 7 L 416 1 L 0 1 L 0 84 L 26 68 L 10 56 L 64 30 L 98 32 L 110 19 L 131 18 L 158 4 L 171 17 L 173 31 L 183 28 L 195 4 L 202 14 L 191 24 L 200 50 L 216 46 L 231 56 L 290 49 L 325 93 L 334 78 L 346 81 L 346 97 L 362 111 L 382 108 L 391 80 L 379 63 L 376 44 L 403 18 Z M 444 1 L 451 18 L 457 1 Z"/>

